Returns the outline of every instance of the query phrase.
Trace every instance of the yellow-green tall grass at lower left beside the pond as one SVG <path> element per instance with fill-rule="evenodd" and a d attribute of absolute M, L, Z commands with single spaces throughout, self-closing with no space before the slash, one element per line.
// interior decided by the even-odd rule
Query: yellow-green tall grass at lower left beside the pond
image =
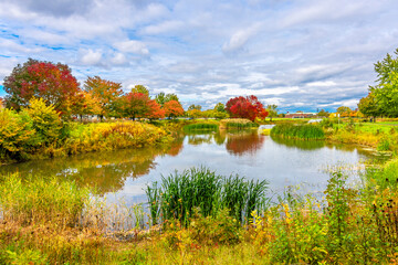
<path fill-rule="evenodd" d="M 4 221 L 22 225 L 78 225 L 83 209 L 88 202 L 87 189 L 55 178 L 23 180 L 18 174 L 1 178 L 0 205 Z"/>

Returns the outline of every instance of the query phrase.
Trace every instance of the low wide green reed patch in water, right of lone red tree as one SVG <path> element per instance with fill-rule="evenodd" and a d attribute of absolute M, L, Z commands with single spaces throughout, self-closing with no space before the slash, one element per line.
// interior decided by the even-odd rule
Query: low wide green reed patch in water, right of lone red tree
<path fill-rule="evenodd" d="M 271 129 L 271 136 L 305 140 L 325 139 L 325 132 L 316 125 L 276 125 Z"/>

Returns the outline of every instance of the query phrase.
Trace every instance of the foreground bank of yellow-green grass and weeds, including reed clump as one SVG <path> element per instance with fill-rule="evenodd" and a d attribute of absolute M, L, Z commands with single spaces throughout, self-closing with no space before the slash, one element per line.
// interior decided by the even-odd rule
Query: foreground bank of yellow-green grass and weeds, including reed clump
<path fill-rule="evenodd" d="M 395 263 L 397 167 L 395 159 L 381 168 L 369 168 L 364 176 L 366 186 L 360 188 L 348 187 L 347 177 L 334 171 L 324 199 L 286 190 L 277 203 L 251 211 L 245 224 L 233 214 L 240 206 L 230 204 L 209 214 L 205 204 L 217 203 L 203 198 L 217 192 L 195 197 L 191 190 L 201 190 L 200 183 L 211 187 L 209 181 L 217 186 L 217 180 L 224 181 L 221 190 L 227 189 L 226 181 L 235 181 L 237 187 L 248 187 L 247 182 L 218 179 L 201 169 L 182 172 L 180 178 L 165 178 L 161 190 L 150 188 L 153 194 L 164 197 L 160 204 L 176 208 L 170 206 L 174 214 L 167 218 L 168 210 L 154 208 L 164 220 L 149 230 L 142 229 L 143 212 L 137 206 L 121 219 L 137 225 L 115 230 L 112 225 L 117 221 L 104 222 L 106 206 L 88 195 L 93 191 L 69 181 L 7 176 L 0 181 L 4 194 L 0 198 L 0 264 Z M 235 199 L 228 202 L 247 194 L 233 191 Z M 193 200 L 198 204 L 190 203 Z M 185 208 L 186 203 L 190 206 Z M 180 219 L 184 211 L 189 222 Z M 116 214 L 123 211 L 113 212 Z"/>

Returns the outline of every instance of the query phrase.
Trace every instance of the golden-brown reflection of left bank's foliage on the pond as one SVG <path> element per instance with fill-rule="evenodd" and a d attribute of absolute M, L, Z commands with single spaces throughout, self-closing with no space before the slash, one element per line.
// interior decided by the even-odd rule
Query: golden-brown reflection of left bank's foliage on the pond
<path fill-rule="evenodd" d="M 40 161 L 28 161 L 0 167 L 0 174 L 19 172 L 23 177 L 75 180 L 81 186 L 95 187 L 100 194 L 122 189 L 127 178 L 138 178 L 149 173 L 156 167 L 155 158 L 164 153 L 177 155 L 182 142 L 165 148 L 147 147 L 143 149 L 122 149 L 56 158 Z"/>

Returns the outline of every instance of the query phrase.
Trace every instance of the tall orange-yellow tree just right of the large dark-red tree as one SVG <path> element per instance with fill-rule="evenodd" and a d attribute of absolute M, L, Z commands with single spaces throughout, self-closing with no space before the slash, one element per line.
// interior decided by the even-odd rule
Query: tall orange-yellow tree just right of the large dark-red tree
<path fill-rule="evenodd" d="M 121 83 L 94 76 L 85 81 L 84 89 L 98 102 L 100 112 L 95 114 L 98 115 L 101 119 L 103 119 L 104 116 L 118 116 L 121 97 L 123 95 Z"/>

